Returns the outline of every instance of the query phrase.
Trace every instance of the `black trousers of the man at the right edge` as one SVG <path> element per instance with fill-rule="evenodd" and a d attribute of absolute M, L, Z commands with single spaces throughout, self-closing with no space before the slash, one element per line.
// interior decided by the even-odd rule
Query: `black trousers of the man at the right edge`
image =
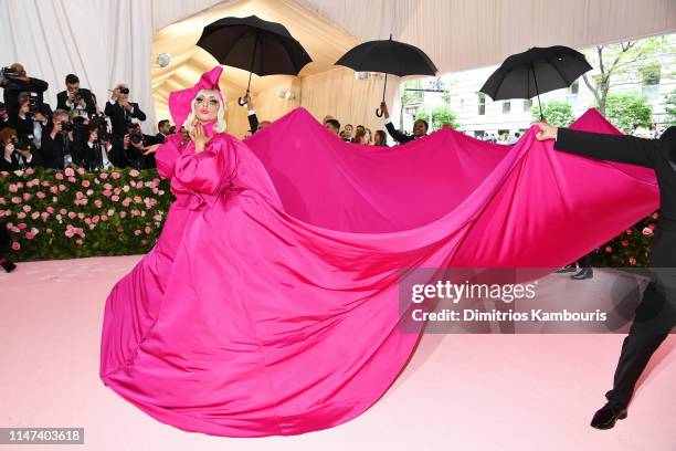
<path fill-rule="evenodd" d="M 654 268 L 653 282 L 646 287 L 630 335 L 622 344 L 613 389 L 605 394 L 609 402 L 620 408 L 629 406 L 636 381 L 653 353 L 676 325 L 676 221 L 659 221 L 651 268 Z"/>

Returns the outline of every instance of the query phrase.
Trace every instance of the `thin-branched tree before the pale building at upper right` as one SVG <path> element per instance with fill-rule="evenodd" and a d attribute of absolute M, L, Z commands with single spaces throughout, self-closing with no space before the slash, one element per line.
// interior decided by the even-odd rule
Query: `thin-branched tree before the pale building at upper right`
<path fill-rule="evenodd" d="M 659 65 L 648 64 L 656 55 L 670 53 L 673 51 L 666 36 L 642 39 L 640 41 L 627 41 L 619 44 L 595 45 L 585 51 L 587 60 L 599 70 L 596 75 L 582 75 L 584 84 L 594 95 L 599 112 L 605 116 L 606 98 L 609 90 L 615 85 L 627 70 L 636 66 L 648 66 L 649 70 L 642 74 L 644 82 L 651 83 L 657 77 L 659 80 Z"/>

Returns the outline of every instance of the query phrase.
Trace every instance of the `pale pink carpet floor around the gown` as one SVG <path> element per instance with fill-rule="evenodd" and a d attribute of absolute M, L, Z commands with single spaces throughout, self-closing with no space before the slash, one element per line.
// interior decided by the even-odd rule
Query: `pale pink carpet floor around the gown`
<path fill-rule="evenodd" d="M 0 273 L 0 427 L 85 428 L 84 447 L 59 450 L 676 449 L 673 335 L 629 418 L 610 431 L 589 420 L 610 388 L 622 335 L 425 335 L 394 386 L 346 424 L 264 439 L 182 432 L 98 378 L 104 301 L 138 260 L 34 262 Z"/>

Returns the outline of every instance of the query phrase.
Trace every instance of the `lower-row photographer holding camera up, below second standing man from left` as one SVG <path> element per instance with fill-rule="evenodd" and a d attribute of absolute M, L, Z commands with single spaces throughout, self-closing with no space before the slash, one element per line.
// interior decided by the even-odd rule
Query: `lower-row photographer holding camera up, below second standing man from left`
<path fill-rule="evenodd" d="M 73 124 L 68 120 L 65 109 L 56 109 L 54 117 L 42 134 L 40 160 L 42 165 L 51 169 L 65 169 L 71 166 L 71 143 L 73 140 Z"/>

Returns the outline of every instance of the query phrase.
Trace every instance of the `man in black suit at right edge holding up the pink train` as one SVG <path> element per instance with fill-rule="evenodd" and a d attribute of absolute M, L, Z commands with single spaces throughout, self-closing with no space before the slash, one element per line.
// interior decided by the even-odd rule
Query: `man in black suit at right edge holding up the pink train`
<path fill-rule="evenodd" d="M 655 170 L 659 186 L 661 218 L 651 249 L 655 280 L 647 286 L 636 308 L 630 335 L 624 339 L 615 369 L 613 389 L 591 421 L 598 429 L 610 429 L 626 409 L 638 377 L 651 356 L 676 324 L 676 127 L 659 139 L 602 135 L 552 127 L 537 123 L 539 140 L 554 139 L 554 148 L 601 160 L 626 162 Z"/>

